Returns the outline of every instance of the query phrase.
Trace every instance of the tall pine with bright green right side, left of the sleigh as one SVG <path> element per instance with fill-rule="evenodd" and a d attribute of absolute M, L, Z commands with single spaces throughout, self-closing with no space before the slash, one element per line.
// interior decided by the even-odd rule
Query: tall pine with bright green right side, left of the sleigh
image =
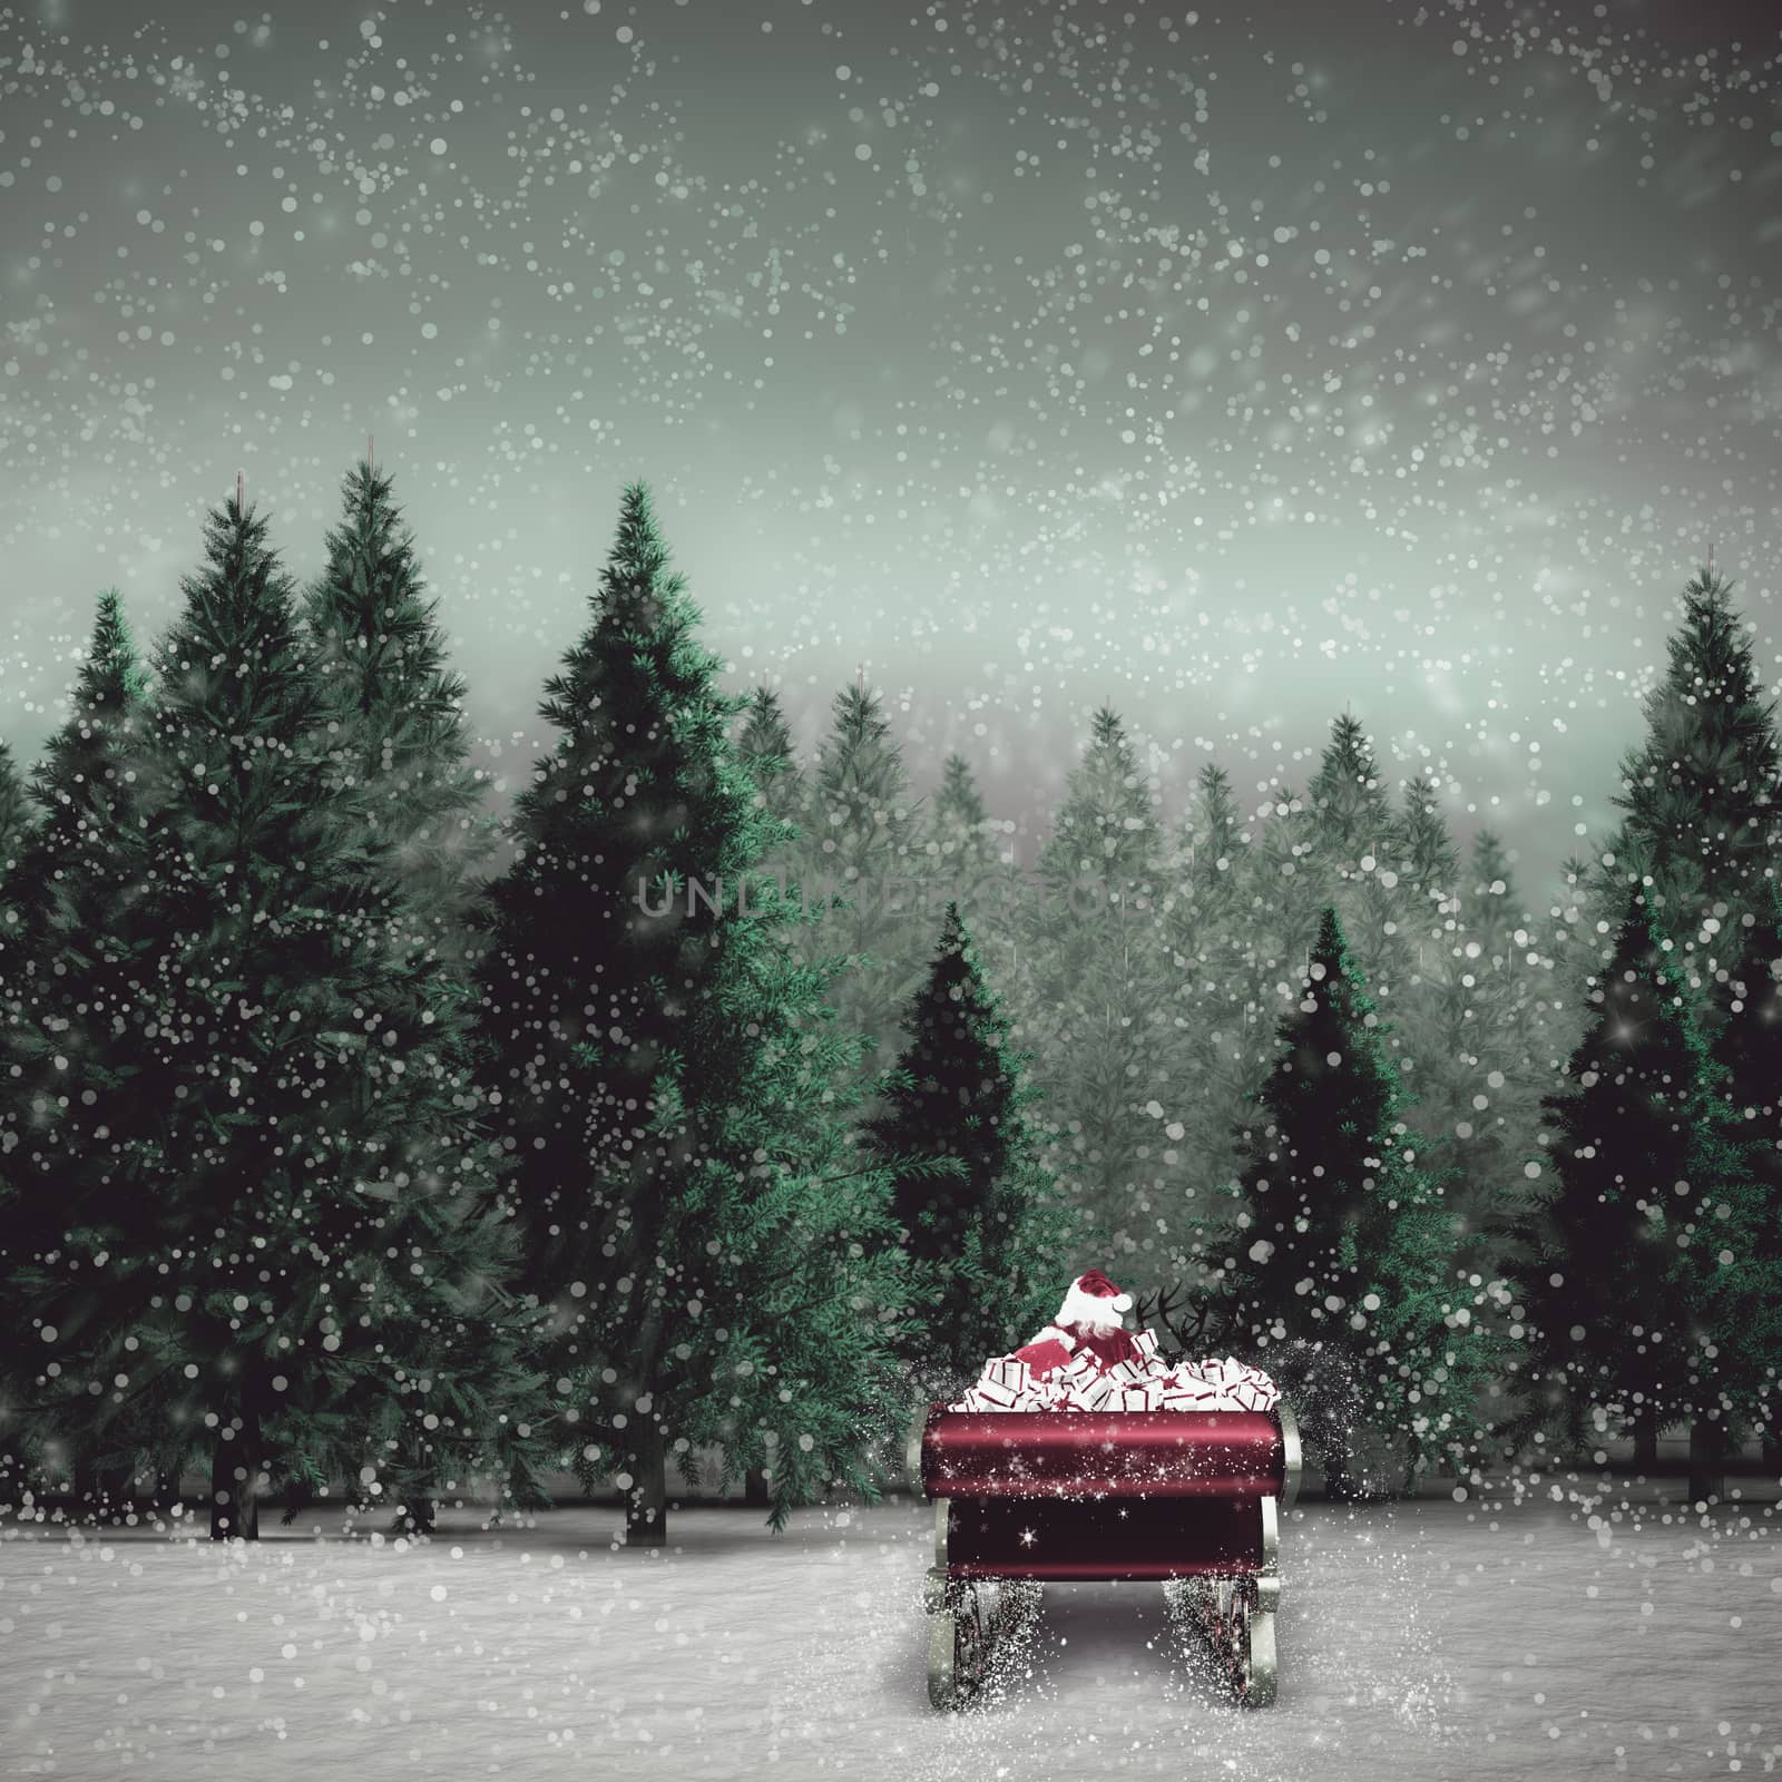
<path fill-rule="evenodd" d="M 759 864 L 789 841 L 731 740 L 740 699 L 642 486 L 593 617 L 547 683 L 560 732 L 515 805 L 479 960 L 492 1094 L 542 1354 L 586 1477 L 654 1545 L 666 1463 L 764 1467 L 773 1518 L 905 1410 L 887 1189 L 830 1089 L 850 1042 Z"/>

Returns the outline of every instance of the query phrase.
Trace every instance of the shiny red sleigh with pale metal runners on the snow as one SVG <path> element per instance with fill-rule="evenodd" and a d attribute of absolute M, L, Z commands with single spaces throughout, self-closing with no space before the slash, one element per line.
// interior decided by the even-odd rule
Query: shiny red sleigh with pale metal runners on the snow
<path fill-rule="evenodd" d="M 1046 1582 L 1157 1582 L 1237 1700 L 1274 1700 L 1281 1511 L 1299 1495 L 1299 1429 L 1272 1411 L 950 1411 L 911 1433 L 934 1499 L 925 1581 L 928 1700 L 984 1680 L 1001 1631 Z M 994 1600 L 993 1600 L 994 1598 Z"/>

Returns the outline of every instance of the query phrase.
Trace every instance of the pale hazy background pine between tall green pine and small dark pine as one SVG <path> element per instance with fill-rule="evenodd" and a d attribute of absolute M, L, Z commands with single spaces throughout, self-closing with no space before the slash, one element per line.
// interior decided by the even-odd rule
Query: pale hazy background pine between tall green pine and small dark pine
<path fill-rule="evenodd" d="M 813 964 L 843 957 L 832 996 L 843 1032 L 871 1041 L 887 1066 L 898 1018 L 921 980 L 923 836 L 903 752 L 877 693 L 845 686 L 811 775 L 804 834 L 793 852 L 802 898 L 822 920 L 802 932 Z"/>

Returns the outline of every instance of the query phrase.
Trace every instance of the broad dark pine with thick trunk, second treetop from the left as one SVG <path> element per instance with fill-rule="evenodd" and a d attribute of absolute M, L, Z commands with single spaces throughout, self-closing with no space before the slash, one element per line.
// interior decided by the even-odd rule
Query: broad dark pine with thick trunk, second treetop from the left
<path fill-rule="evenodd" d="M 239 501 L 205 552 L 155 656 L 137 1069 L 12 1288 L 45 1427 L 157 1427 L 139 1458 L 207 1454 L 212 1534 L 253 1538 L 262 1465 L 367 1495 L 392 1452 L 524 1465 L 494 1401 L 526 1399 L 438 982 L 364 807 L 328 791 L 289 577 Z"/>

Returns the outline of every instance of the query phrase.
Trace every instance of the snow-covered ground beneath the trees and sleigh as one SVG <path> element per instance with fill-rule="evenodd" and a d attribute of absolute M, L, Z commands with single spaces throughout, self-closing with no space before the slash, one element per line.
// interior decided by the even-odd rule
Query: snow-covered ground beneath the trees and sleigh
<path fill-rule="evenodd" d="M 1545 1490 L 1545 1486 L 1543 1486 Z M 1597 1506 L 1607 1511 L 1611 1504 Z M 1283 1529 L 1281 1700 L 1224 1705 L 1155 1588 L 1051 1586 L 980 1707 L 925 1704 L 927 1506 L 339 1520 L 214 1549 L 0 1538 L 0 1775 L 1475 1778 L 1782 1764 L 1770 1502 L 1304 1504 Z"/>

